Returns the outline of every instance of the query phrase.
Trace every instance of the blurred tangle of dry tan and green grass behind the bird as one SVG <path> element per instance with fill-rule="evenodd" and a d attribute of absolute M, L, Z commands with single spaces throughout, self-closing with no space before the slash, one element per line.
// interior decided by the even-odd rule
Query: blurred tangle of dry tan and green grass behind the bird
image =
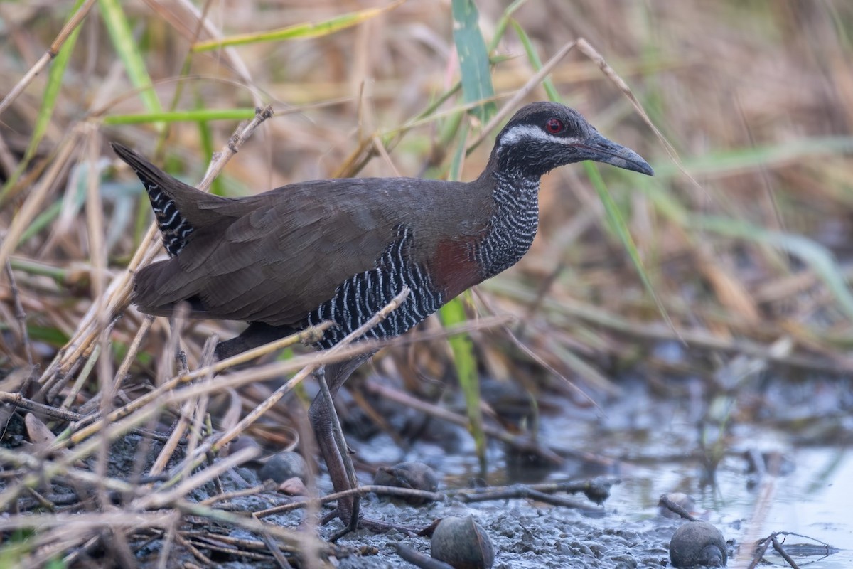
<path fill-rule="evenodd" d="M 450 0 L 0 3 L 3 391 L 64 399 L 63 409 L 83 413 L 116 369 L 129 374 L 115 384 L 128 388 L 117 405 L 134 397 L 131 386 L 144 392 L 172 374 L 165 319 L 119 368 L 146 325 L 135 309 L 120 310 L 127 268 L 154 249 L 147 198 L 108 142 L 197 183 L 239 121 L 271 105 L 274 116 L 212 191 L 248 195 L 334 176 L 470 180 L 496 134 L 484 122 L 519 93 L 508 113 L 558 99 L 634 148 L 656 176 L 554 171 L 531 252 L 421 331 L 515 320 L 394 346 L 368 374 L 431 400 L 458 378 L 474 423 L 481 410 L 512 415 L 499 408 L 507 385 L 554 410 L 565 405 L 548 401 L 554 392 L 606 407 L 626 376 L 676 397 L 694 394 L 681 378 L 699 378 L 708 400 L 757 369 L 849 379 L 853 3 L 476 5 L 490 49 L 490 77 L 479 82 L 493 88 L 488 100 L 459 89 L 457 49 L 477 38 L 455 44 L 461 19 Z M 543 62 L 579 38 L 587 47 L 575 45 L 538 81 Z M 186 324 L 190 369 L 210 334 L 238 328 Z M 734 365 L 740 357 L 749 363 Z M 482 409 L 471 397 L 479 380 L 488 386 Z M 247 406 L 266 394 L 253 388 L 242 393 Z M 789 403 L 808 405 L 809 390 Z M 387 427 L 357 391 L 351 397 Z M 851 403 L 833 401 L 833 411 Z M 743 420 L 758 407 L 730 401 L 723 415 Z M 288 442 L 276 421 L 255 432 L 274 447 Z M 535 426 L 512 428 L 535 437 Z M 829 436 L 850 440 L 844 430 Z M 562 443 L 601 450 L 596 440 Z"/>

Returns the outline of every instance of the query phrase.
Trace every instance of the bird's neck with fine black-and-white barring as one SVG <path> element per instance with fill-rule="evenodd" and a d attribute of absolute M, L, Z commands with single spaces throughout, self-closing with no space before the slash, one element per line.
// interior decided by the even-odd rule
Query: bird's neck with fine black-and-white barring
<path fill-rule="evenodd" d="M 477 250 L 484 278 L 495 276 L 525 256 L 539 226 L 539 177 L 514 171 L 486 171 L 493 186 L 492 213 Z"/>

